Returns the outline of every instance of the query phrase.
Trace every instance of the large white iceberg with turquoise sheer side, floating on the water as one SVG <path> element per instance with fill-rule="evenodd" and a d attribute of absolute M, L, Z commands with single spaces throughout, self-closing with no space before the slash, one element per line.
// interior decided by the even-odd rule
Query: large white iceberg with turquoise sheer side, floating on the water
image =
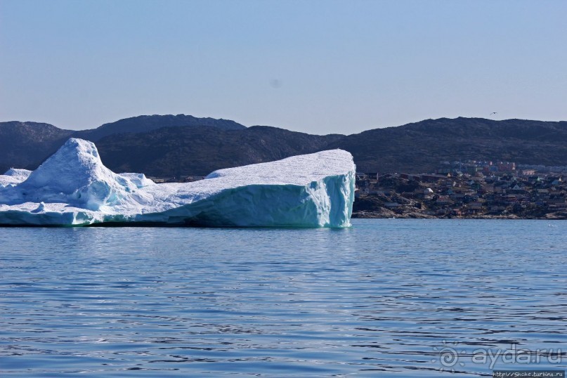
<path fill-rule="evenodd" d="M 0 225 L 346 227 L 355 171 L 350 153 L 328 150 L 156 184 L 115 174 L 93 143 L 71 138 L 35 171 L 0 175 Z"/>

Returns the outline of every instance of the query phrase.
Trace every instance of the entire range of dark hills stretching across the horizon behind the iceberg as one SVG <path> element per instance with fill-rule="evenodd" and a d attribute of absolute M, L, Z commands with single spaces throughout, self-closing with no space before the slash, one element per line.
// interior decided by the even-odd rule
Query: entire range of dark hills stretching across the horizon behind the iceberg
<path fill-rule="evenodd" d="M 151 115 L 97 129 L 0 122 L 0 172 L 34 169 L 70 136 L 96 142 L 115 171 L 152 176 L 204 175 L 214 169 L 268 162 L 332 148 L 354 156 L 359 171 L 433 171 L 441 160 L 492 159 L 567 165 L 567 122 L 481 118 L 426 119 L 349 136 L 315 136 L 226 119 Z"/>

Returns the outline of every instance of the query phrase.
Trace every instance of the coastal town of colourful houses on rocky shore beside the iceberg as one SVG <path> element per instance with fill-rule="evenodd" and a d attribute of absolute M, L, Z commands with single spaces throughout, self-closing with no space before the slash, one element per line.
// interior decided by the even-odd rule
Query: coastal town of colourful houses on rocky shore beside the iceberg
<path fill-rule="evenodd" d="M 357 173 L 353 218 L 567 219 L 567 167 L 440 162 L 434 173 Z"/>

